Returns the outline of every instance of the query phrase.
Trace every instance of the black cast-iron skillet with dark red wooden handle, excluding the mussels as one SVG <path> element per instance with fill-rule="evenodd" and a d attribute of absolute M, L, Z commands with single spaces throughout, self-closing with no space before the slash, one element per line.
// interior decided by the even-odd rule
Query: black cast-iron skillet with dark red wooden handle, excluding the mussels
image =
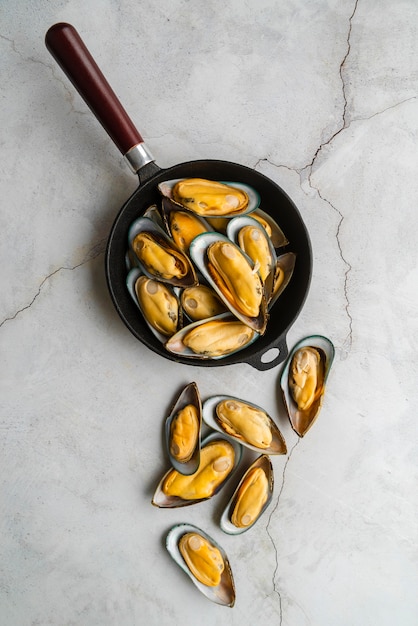
<path fill-rule="evenodd" d="M 52 26 L 45 43 L 81 97 L 100 121 L 113 142 L 139 176 L 139 187 L 120 209 L 110 231 L 106 249 L 106 278 L 117 312 L 133 335 L 157 354 L 187 365 L 220 366 L 248 363 L 259 370 L 270 369 L 286 358 L 286 334 L 298 317 L 308 294 L 312 274 L 311 244 L 298 209 L 286 193 L 263 174 L 243 165 L 218 160 L 198 160 L 161 169 L 154 162 L 139 132 L 91 54 L 70 24 Z M 296 253 L 293 277 L 270 311 L 265 334 L 240 352 L 220 360 L 196 360 L 167 352 L 151 334 L 126 289 L 125 253 L 132 221 L 150 205 L 160 201 L 157 184 L 175 178 L 208 178 L 240 181 L 254 187 L 261 205 L 280 225 Z"/>

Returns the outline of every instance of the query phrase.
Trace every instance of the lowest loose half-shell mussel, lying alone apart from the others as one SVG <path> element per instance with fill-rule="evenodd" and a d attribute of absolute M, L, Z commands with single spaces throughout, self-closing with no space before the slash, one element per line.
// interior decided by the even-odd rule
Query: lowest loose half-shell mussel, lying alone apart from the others
<path fill-rule="evenodd" d="M 235 585 L 228 557 L 207 533 L 192 524 L 174 526 L 166 538 L 174 561 L 212 602 L 232 607 Z"/>

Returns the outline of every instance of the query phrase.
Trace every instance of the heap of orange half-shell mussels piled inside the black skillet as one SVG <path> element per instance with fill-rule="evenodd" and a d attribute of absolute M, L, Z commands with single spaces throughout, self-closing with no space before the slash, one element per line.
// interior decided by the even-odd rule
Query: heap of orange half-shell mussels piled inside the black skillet
<path fill-rule="evenodd" d="M 165 348 L 219 359 L 253 343 L 288 285 L 296 256 L 242 183 L 187 178 L 158 185 L 161 205 L 130 226 L 127 287 Z"/>

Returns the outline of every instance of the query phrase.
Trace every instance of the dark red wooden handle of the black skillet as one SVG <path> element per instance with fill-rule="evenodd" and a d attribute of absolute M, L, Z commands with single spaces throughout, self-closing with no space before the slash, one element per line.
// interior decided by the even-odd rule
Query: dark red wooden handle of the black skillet
<path fill-rule="evenodd" d="M 126 154 L 143 139 L 71 24 L 51 26 L 45 45 L 116 146 Z"/>

